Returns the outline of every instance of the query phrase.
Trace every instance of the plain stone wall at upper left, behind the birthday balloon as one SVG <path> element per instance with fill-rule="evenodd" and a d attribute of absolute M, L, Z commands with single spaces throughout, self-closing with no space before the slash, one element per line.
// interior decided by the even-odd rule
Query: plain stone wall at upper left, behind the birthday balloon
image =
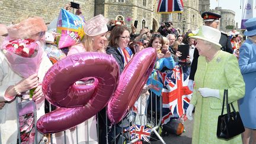
<path fill-rule="evenodd" d="M 46 23 L 49 23 L 59 15 L 60 8 L 64 7 L 70 1 L 28 1 L 28 0 L 2 0 L 0 1 L 0 23 L 11 24 L 12 21 L 24 14 L 38 15 L 44 18 Z M 79 0 L 75 1 L 80 4 L 82 14 L 88 20 L 94 17 L 94 0 Z"/>

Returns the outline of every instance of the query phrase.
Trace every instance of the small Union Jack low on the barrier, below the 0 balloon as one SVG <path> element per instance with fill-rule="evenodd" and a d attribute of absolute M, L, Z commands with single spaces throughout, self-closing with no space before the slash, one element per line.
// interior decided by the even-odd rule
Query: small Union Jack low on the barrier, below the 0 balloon
<path fill-rule="evenodd" d="M 140 140 L 149 142 L 151 130 L 152 129 L 150 127 L 133 124 L 132 126 L 128 127 L 127 129 L 124 129 L 124 132 L 130 131 L 131 139 L 136 139 L 138 137 Z"/>

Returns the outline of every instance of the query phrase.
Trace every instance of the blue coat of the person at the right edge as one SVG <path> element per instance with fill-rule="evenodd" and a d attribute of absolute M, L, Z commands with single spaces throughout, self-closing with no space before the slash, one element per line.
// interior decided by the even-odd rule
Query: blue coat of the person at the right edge
<path fill-rule="evenodd" d="M 244 126 L 256 129 L 256 44 L 247 39 L 240 48 L 239 67 L 245 82 L 245 97 L 239 100 Z"/>

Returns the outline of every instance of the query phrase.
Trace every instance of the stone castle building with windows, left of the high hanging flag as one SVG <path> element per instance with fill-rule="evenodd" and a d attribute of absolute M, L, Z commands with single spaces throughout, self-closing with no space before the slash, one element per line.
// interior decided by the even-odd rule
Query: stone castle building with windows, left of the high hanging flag
<path fill-rule="evenodd" d="M 98 0 L 95 2 L 95 15 L 103 14 L 108 19 L 122 20 L 128 27 L 137 20 L 137 33 L 143 27 L 156 31 L 161 19 L 161 15 L 156 14 L 156 2 L 157 0 Z M 127 18 L 132 18 L 132 21 L 127 21 Z"/>

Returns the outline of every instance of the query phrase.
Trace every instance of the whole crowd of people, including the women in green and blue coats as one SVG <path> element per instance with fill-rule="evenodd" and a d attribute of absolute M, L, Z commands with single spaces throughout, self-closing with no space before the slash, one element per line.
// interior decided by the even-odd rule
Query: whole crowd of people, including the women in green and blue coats
<path fill-rule="evenodd" d="M 66 5 L 65 9 L 70 10 L 70 5 Z M 78 9 L 76 14 L 81 15 L 81 9 Z M 66 47 L 65 50 L 68 49 L 66 56 L 86 52 L 107 53 L 114 57 L 119 65 L 119 72 L 122 73 L 136 53 L 147 47 L 153 47 L 157 58 L 152 77 L 156 81 L 159 81 L 158 72 L 172 71 L 177 67 L 188 69 L 190 73 L 186 85 L 193 92 L 193 96 L 190 104 L 185 108 L 185 113 L 188 120 L 192 120 L 193 111 L 195 111 L 192 143 L 247 144 L 250 140 L 256 143 L 256 114 L 254 112 L 256 108 L 256 18 L 245 23 L 247 30 L 244 36 L 247 36 L 247 40 L 244 41 L 242 34 L 235 30 L 229 34 L 217 30 L 221 15 L 203 12 L 201 17 L 204 25 L 199 27 L 199 30 L 188 30 L 181 34 L 172 27 L 171 21 L 161 23 L 158 31 L 150 31 L 145 27 L 137 30 L 134 25 L 131 25 L 130 31 L 124 23 L 115 24 L 114 20 L 108 21 L 103 15 L 97 15 L 84 24 L 84 39 L 71 47 Z M 50 34 L 56 39 L 58 34 L 56 30 L 53 31 L 51 30 Z M 137 31 L 139 33 L 136 33 Z M 44 34 L 46 32 L 47 25 L 43 19 L 34 15 L 24 15 L 8 26 L 0 25 L 0 140 L 2 143 L 17 143 L 19 137 L 19 127 L 16 126 L 21 118 L 17 117 L 18 107 L 15 100 L 18 103 L 28 101 L 31 98 L 30 90 L 34 89 L 36 119 L 45 113 L 44 102 L 46 100 L 41 83 L 48 69 L 54 64 L 47 57 L 47 52 L 42 52 L 36 73 L 25 77 L 12 68 L 13 65 L 4 48 L 10 41 L 31 39 L 38 44 L 37 55 L 39 55 L 40 49 L 45 49 Z M 187 46 L 188 52 L 185 57 L 183 56 L 185 50 L 180 49 L 181 45 Z M 165 85 L 163 81 L 159 82 Z M 152 88 L 151 84 L 145 84 L 140 94 L 140 98 L 145 100 L 143 103 L 139 98 L 145 110 L 140 111 L 139 115 L 147 113 L 146 105 L 151 105 L 152 97 L 157 105 L 160 103 L 159 97 L 152 93 Z M 221 113 L 224 89 L 228 89 L 229 103 L 233 103 L 235 109 L 239 110 L 245 127 L 242 136 L 238 135 L 229 140 L 219 139 L 216 136 L 217 117 Z M 150 98 L 149 95 L 152 97 Z M 115 124 L 115 127 L 110 126 L 105 111 L 104 108 L 99 112 L 98 117 L 91 117 L 78 126 L 66 130 L 65 135 L 63 132 L 55 133 L 53 143 L 63 143 L 64 136 L 67 143 L 114 143 L 115 136 L 123 132 L 123 129 L 134 120 L 126 116 L 122 122 Z M 140 124 L 145 123 L 140 121 Z M 97 126 L 100 131 L 98 133 Z M 110 127 L 107 129 L 109 132 L 105 127 Z M 108 137 L 106 137 L 107 134 Z M 34 135 L 31 127 L 30 132 L 25 136 L 27 139 L 23 137 L 22 141 L 35 143 L 39 142 L 43 136 L 37 133 L 37 140 L 32 138 L 28 141 Z M 75 137 L 78 137 L 78 141 Z"/>

